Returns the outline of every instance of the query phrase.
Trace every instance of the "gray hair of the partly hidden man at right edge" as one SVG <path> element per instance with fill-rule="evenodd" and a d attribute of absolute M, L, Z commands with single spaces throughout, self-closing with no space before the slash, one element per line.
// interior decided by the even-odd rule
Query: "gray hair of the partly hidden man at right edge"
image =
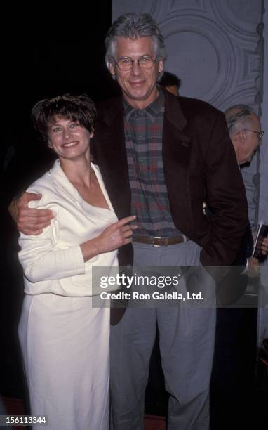
<path fill-rule="evenodd" d="M 252 115 L 256 115 L 253 108 L 248 105 L 234 105 L 225 110 L 225 119 L 229 129 L 229 135 L 236 133 L 243 128 L 251 125 Z"/>

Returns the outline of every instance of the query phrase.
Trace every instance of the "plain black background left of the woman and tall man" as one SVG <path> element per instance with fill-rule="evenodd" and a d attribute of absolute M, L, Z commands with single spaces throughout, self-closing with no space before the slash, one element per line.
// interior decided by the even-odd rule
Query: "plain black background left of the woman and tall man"
<path fill-rule="evenodd" d="M 88 93 L 98 101 L 118 91 L 105 66 L 112 1 L 102 0 L 94 10 L 91 4 L 89 10 L 74 4 L 57 12 L 48 4 L 40 6 L 29 14 L 24 10 L 21 17 L 18 8 L 10 6 L 3 15 L 8 30 L 1 44 L 0 396 L 24 399 L 17 334 L 23 278 L 18 233 L 7 208 L 15 193 L 41 176 L 53 160 L 32 130 L 30 112 L 38 100 L 62 93 Z"/>

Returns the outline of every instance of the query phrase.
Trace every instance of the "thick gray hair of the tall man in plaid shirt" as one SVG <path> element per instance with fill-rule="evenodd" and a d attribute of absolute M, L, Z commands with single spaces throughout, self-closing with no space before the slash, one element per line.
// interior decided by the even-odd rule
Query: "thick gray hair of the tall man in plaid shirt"
<path fill-rule="evenodd" d="M 149 13 L 128 12 L 119 16 L 108 30 L 105 39 L 105 62 L 107 67 L 109 67 L 109 63 L 112 63 L 114 60 L 114 45 L 118 37 L 126 37 L 135 40 L 145 36 L 151 37 L 154 41 L 157 58 L 166 60 L 166 48 L 163 35 L 159 30 L 159 26 Z"/>

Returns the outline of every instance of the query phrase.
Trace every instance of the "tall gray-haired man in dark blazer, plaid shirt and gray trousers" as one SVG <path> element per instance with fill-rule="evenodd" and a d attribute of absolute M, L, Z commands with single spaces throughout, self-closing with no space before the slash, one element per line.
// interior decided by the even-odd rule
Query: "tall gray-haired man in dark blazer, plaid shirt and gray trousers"
<path fill-rule="evenodd" d="M 231 264 L 246 228 L 247 204 L 224 115 L 156 84 L 166 48 L 149 14 L 119 17 L 105 44 L 107 67 L 122 96 L 99 106 L 93 150 L 116 215 L 135 214 L 138 224 L 133 245 L 119 249 L 119 263 L 132 265 L 134 251 L 134 268 Z M 28 200 L 24 195 L 16 205 L 18 226 L 34 232 L 49 216 L 42 212 L 36 224 Z M 203 215 L 204 200 L 210 219 Z M 114 430 L 143 429 L 156 324 L 170 393 L 168 429 L 208 429 L 215 308 L 178 305 L 128 307 L 112 327 Z"/>

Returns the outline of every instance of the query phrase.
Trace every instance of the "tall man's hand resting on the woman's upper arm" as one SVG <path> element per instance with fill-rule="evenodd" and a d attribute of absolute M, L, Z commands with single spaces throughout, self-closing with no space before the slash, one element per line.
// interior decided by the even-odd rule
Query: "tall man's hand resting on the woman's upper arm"
<path fill-rule="evenodd" d="M 25 235 L 39 235 L 43 228 L 49 226 L 53 213 L 49 209 L 31 209 L 31 200 L 40 200 L 41 194 L 23 193 L 18 200 L 13 200 L 9 206 L 9 213 L 17 228 Z"/>

